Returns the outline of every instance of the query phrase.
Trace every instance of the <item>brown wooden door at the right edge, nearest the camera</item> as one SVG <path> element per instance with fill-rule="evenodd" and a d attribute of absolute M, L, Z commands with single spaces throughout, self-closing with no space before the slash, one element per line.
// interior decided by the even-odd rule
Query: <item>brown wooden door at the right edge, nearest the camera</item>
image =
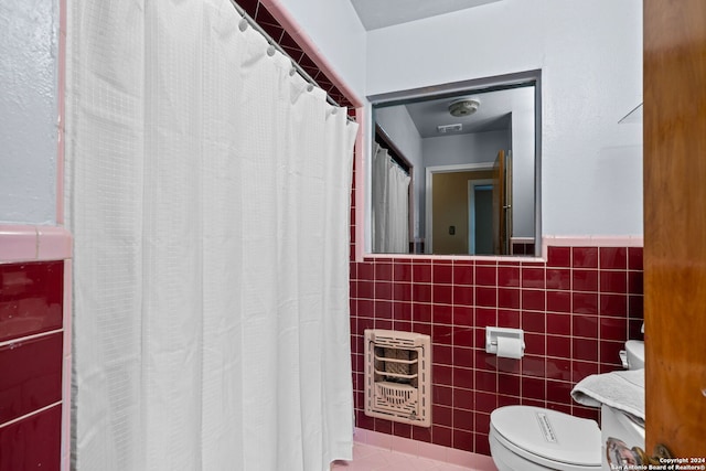
<path fill-rule="evenodd" d="M 644 1 L 646 450 L 706 458 L 706 1 Z M 699 463 L 702 464 L 702 463 Z"/>

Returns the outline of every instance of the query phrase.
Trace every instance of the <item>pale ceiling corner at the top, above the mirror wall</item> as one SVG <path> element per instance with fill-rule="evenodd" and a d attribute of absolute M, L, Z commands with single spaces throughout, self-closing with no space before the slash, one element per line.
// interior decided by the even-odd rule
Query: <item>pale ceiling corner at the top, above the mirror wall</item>
<path fill-rule="evenodd" d="M 366 31 L 407 23 L 500 0 L 351 0 Z"/>

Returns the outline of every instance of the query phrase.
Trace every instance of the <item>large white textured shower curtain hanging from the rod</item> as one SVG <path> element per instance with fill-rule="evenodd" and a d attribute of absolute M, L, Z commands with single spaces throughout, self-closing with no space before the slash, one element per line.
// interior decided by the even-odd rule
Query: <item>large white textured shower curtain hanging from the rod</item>
<path fill-rule="evenodd" d="M 350 459 L 356 125 L 227 0 L 69 7 L 73 467 Z"/>

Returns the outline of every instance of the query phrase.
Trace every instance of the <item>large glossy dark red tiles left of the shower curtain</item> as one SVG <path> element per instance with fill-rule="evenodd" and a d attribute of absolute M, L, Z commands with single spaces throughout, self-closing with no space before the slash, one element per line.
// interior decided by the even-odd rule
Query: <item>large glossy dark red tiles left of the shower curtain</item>
<path fill-rule="evenodd" d="M 0 471 L 60 470 L 64 263 L 0 264 Z"/>

